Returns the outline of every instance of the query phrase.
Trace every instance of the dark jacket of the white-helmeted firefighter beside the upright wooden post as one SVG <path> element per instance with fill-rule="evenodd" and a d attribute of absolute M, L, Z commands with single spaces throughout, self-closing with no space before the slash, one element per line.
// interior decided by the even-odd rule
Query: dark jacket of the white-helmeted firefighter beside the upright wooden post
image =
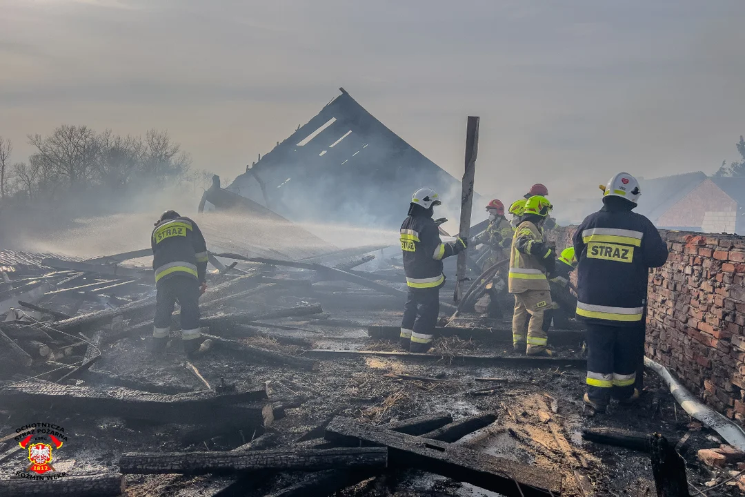
<path fill-rule="evenodd" d="M 423 211 L 424 209 L 422 209 Z M 431 215 L 410 215 L 401 225 L 401 250 L 409 288 L 439 288 L 445 282 L 443 259 L 460 252 L 460 241 L 443 243 Z"/>

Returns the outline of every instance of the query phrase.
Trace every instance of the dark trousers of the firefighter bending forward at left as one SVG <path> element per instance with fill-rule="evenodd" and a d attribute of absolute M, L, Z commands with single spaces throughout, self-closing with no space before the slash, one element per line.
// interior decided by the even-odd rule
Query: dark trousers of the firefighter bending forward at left
<path fill-rule="evenodd" d="M 186 353 L 196 352 L 200 346 L 199 282 L 188 276 L 171 276 L 160 281 L 155 297 L 153 320 L 153 352 L 165 350 L 174 306 L 181 307 L 181 339 Z"/>

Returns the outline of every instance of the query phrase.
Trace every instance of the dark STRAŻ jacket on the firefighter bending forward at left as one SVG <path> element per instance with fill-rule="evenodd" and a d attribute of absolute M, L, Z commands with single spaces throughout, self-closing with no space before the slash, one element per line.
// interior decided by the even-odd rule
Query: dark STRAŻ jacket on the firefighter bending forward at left
<path fill-rule="evenodd" d="M 207 246 L 194 221 L 184 217 L 162 221 L 153 229 L 150 244 L 156 285 L 176 275 L 205 281 Z"/>

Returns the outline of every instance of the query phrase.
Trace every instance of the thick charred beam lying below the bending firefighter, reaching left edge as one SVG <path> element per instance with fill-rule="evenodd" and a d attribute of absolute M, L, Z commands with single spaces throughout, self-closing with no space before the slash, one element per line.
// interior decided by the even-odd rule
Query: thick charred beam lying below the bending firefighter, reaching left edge
<path fill-rule="evenodd" d="M 67 415 L 117 416 L 125 419 L 157 422 L 183 422 L 227 425 L 268 425 L 273 422 L 270 404 L 257 402 L 243 405 L 224 405 L 247 399 L 264 399 L 266 386 L 238 397 L 222 396 L 215 392 L 162 393 L 139 392 L 123 387 L 80 387 L 26 380 L 0 390 L 0 405 L 10 410 L 28 412 L 31 406 Z"/>

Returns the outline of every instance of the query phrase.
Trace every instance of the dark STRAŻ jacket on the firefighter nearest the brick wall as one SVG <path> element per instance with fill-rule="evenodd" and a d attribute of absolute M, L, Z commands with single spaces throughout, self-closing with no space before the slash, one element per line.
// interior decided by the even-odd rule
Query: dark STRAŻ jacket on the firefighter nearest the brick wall
<path fill-rule="evenodd" d="M 630 209 L 603 206 L 577 228 L 574 253 L 577 316 L 598 324 L 638 325 L 649 268 L 668 259 L 668 245 L 652 222 Z"/>

